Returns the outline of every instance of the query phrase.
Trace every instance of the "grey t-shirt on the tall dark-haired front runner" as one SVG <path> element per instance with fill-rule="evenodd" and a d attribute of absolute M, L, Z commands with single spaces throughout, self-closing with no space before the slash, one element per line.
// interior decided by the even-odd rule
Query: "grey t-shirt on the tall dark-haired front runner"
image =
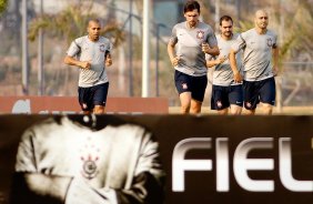
<path fill-rule="evenodd" d="M 180 61 L 175 70 L 193 76 L 206 75 L 202 43 L 209 43 L 210 48 L 218 45 L 213 29 L 209 24 L 199 22 L 194 29 L 190 29 L 186 21 L 178 23 L 172 30 L 170 43 L 178 44 L 176 55 Z"/>

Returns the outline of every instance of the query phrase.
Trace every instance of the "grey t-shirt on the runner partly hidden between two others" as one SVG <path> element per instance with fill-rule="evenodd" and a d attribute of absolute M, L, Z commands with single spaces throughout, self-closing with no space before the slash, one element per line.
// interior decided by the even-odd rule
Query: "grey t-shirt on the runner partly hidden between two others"
<path fill-rule="evenodd" d="M 213 72 L 213 84 L 214 85 L 229 86 L 229 85 L 239 84 L 234 82 L 233 71 L 231 69 L 231 64 L 229 60 L 231 45 L 234 43 L 236 38 L 239 38 L 238 33 L 234 33 L 230 40 L 224 40 L 221 37 L 221 34 L 216 35 L 218 44 L 220 49 L 220 55 L 212 57 L 210 54 L 206 54 L 208 60 L 226 58 L 226 60 L 223 63 L 215 65 L 215 69 Z M 236 53 L 236 65 L 238 65 L 238 70 L 242 72 L 241 52 Z"/>

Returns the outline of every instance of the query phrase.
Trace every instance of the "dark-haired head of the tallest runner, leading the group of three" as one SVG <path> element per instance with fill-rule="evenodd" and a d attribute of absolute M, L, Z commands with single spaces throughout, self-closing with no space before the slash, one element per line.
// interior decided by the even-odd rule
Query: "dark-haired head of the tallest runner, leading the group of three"
<path fill-rule="evenodd" d="M 184 17 L 190 27 L 195 27 L 200 16 L 200 4 L 198 1 L 189 0 L 183 8 Z"/>

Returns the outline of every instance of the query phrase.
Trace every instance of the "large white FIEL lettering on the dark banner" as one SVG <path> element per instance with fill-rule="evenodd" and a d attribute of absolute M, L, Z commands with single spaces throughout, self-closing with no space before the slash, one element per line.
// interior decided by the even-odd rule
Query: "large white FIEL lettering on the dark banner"
<path fill-rule="evenodd" d="M 173 151 L 172 157 L 172 191 L 185 190 L 186 171 L 212 171 L 212 160 L 185 160 L 190 150 L 211 149 L 211 137 L 190 137 L 180 141 Z M 249 153 L 255 150 L 271 150 L 274 152 L 273 137 L 252 137 L 242 141 L 233 155 L 233 174 L 238 184 L 250 192 L 274 192 L 273 180 L 252 180 L 250 171 L 274 171 L 273 159 L 251 159 Z M 216 137 L 216 191 L 230 191 L 230 153 L 229 139 Z M 313 181 L 299 181 L 292 175 L 291 139 L 279 139 L 279 174 L 283 186 L 291 192 L 313 192 Z"/>

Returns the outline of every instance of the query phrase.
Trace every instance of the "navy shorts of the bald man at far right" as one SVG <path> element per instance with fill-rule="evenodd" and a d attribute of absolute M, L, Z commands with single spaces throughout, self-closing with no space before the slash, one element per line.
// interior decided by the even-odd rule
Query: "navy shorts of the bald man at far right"
<path fill-rule="evenodd" d="M 244 108 L 256 109 L 258 103 L 275 104 L 275 79 L 269 78 L 262 81 L 243 81 Z"/>

